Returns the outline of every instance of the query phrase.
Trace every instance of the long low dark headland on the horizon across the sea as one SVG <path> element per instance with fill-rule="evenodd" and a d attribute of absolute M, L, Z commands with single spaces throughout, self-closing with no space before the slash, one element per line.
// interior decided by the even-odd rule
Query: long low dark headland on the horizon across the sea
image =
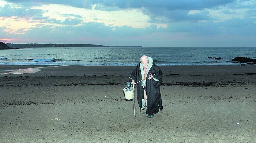
<path fill-rule="evenodd" d="M 104 45 L 93 45 L 93 44 L 10 44 L 8 46 L 12 48 L 43 48 L 43 47 L 142 47 L 142 46 L 104 46 Z"/>

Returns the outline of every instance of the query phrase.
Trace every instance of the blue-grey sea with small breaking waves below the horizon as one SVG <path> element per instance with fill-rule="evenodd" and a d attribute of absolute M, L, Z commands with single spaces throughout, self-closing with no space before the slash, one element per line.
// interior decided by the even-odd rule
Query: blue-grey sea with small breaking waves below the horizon
<path fill-rule="evenodd" d="M 256 58 L 253 47 L 103 47 L 0 50 L 0 65 L 136 65 L 147 55 L 157 65 L 236 65 L 231 59 Z M 215 59 L 214 57 L 221 57 Z"/>

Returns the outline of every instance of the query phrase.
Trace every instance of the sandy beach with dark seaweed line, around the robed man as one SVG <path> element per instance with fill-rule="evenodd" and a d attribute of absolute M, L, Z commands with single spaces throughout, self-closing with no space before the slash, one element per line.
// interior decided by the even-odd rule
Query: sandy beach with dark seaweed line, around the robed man
<path fill-rule="evenodd" d="M 151 119 L 137 102 L 133 116 L 124 99 L 135 66 L 0 65 L 0 73 L 35 67 L 43 68 L 0 75 L 0 143 L 256 142 L 255 65 L 159 66 L 163 110 Z"/>

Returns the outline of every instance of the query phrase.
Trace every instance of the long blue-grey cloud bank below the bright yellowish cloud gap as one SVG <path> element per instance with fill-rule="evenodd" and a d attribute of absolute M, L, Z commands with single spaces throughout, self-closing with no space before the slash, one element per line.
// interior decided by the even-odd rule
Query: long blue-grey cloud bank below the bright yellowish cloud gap
<path fill-rule="evenodd" d="M 61 23 L 61 21 L 56 21 L 54 19 L 53 23 Z M 69 21 L 69 20 L 65 20 Z M 71 22 L 72 23 L 72 22 Z M 236 23 L 236 24 L 232 24 Z M 77 24 L 77 23 L 74 23 Z M 256 23 L 253 23 L 253 19 L 249 18 L 233 18 L 230 20 L 225 20 L 223 22 L 214 23 L 213 21 L 200 22 L 200 23 L 171 23 L 168 24 L 166 28 L 157 27 L 157 25 L 152 24 L 146 28 L 133 28 L 130 26 L 106 26 L 103 23 L 89 22 L 83 23 L 80 26 L 72 26 L 68 23 L 67 26 L 38 26 L 36 28 L 31 28 L 31 30 L 26 31 L 24 36 L 31 36 L 38 33 L 44 33 L 42 38 L 59 37 L 60 39 L 64 37 L 70 37 L 78 39 L 79 37 L 123 37 L 129 38 L 134 36 L 147 36 L 153 35 L 155 33 L 178 33 L 183 32 L 186 35 L 199 36 L 199 35 L 255 35 L 256 33 Z M 44 37 L 45 35 L 45 37 Z M 33 36 L 34 37 L 34 36 Z M 67 38 L 64 38 L 67 39 Z"/>

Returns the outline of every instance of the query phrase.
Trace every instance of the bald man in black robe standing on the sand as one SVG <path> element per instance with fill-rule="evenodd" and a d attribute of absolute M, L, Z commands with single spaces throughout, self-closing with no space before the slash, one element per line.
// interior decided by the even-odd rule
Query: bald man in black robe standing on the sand
<path fill-rule="evenodd" d="M 142 80 L 137 86 L 137 99 L 140 107 L 140 113 L 145 107 L 148 118 L 154 117 L 154 114 L 163 109 L 162 98 L 160 93 L 160 82 L 162 81 L 163 73 L 155 63 L 153 58 L 143 55 L 140 58 L 140 63 L 136 66 L 129 76 L 132 80 L 132 85 L 135 82 Z"/>

